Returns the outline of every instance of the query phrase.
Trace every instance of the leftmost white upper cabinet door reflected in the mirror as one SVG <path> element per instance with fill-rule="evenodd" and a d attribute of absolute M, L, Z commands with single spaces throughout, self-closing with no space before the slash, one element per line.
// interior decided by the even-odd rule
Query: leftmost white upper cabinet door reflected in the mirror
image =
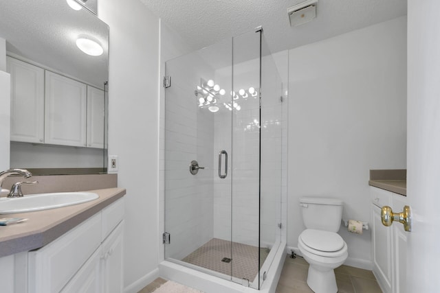
<path fill-rule="evenodd" d="M 44 70 L 7 56 L 11 75 L 11 141 L 44 142 Z"/>

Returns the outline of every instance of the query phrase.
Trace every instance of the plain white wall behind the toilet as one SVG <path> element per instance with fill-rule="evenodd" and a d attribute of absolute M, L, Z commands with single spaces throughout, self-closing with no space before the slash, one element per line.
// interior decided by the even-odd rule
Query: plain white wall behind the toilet
<path fill-rule="evenodd" d="M 406 17 L 289 51 L 288 246 L 303 226 L 299 198 L 344 200 L 370 221 L 369 169 L 406 168 Z M 371 231 L 340 235 L 347 264 L 371 268 Z"/>

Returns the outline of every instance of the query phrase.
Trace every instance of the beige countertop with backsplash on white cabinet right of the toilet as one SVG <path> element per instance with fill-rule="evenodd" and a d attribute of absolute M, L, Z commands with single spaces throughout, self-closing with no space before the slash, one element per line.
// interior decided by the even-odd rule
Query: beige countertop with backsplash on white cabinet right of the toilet
<path fill-rule="evenodd" d="M 406 196 L 406 169 L 370 170 L 369 185 Z"/>

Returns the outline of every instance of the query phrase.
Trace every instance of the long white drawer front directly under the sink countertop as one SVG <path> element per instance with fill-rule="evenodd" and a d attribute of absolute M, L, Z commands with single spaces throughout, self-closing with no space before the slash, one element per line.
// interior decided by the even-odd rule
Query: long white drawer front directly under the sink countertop
<path fill-rule="evenodd" d="M 101 244 L 101 213 L 29 253 L 29 292 L 60 292 Z"/>

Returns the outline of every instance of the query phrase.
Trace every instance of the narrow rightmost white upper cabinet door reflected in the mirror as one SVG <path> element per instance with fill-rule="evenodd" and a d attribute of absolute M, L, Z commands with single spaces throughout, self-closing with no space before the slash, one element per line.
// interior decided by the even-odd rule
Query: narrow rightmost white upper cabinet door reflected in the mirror
<path fill-rule="evenodd" d="M 87 86 L 87 147 L 104 148 L 104 91 Z"/>

